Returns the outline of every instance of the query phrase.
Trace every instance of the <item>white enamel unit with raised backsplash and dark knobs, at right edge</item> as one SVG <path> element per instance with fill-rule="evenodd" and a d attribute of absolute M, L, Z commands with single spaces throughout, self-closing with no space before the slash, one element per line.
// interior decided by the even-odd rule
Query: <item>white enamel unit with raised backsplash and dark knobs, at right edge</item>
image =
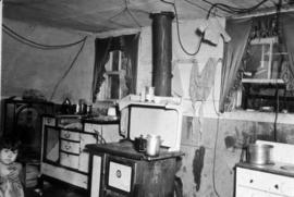
<path fill-rule="evenodd" d="M 294 197 L 294 145 L 273 145 L 273 164 L 236 164 L 235 197 Z"/>

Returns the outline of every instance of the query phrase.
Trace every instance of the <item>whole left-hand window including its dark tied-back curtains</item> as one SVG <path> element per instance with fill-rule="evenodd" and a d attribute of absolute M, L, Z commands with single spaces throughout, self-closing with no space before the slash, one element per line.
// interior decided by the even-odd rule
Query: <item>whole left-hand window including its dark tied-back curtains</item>
<path fill-rule="evenodd" d="M 93 102 L 135 94 L 139 33 L 95 39 Z"/>

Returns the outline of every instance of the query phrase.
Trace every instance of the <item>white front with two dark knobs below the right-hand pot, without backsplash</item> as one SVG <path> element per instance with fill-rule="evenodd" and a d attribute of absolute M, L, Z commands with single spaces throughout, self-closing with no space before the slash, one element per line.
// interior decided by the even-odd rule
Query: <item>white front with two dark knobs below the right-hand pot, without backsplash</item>
<path fill-rule="evenodd" d="M 261 170 L 236 167 L 235 197 L 294 196 L 294 176 Z"/>

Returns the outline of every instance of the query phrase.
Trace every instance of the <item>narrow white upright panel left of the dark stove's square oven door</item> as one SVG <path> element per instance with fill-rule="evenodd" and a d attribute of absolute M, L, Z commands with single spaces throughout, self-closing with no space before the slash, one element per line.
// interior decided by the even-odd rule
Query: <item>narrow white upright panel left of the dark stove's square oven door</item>
<path fill-rule="evenodd" d="M 102 171 L 102 157 L 93 156 L 91 163 L 91 174 L 90 174 L 90 197 L 100 196 L 100 181 L 101 181 L 101 171 Z"/>

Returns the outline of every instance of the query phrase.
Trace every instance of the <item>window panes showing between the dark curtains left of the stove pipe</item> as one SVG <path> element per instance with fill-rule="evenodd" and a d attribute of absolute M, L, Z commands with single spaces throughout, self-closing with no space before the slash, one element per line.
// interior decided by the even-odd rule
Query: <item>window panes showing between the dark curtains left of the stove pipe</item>
<path fill-rule="evenodd" d="M 123 51 L 114 50 L 109 53 L 109 60 L 105 65 L 105 81 L 97 95 L 98 100 L 117 100 L 127 95 L 126 66 L 127 59 Z"/>

